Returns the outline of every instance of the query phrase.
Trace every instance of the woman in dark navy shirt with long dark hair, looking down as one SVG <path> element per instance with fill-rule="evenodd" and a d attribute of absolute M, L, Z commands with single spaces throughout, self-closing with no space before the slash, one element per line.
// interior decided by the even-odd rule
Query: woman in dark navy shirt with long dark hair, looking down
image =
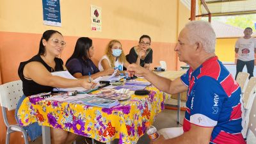
<path fill-rule="evenodd" d="M 90 74 L 92 79 L 113 74 L 113 68 L 107 68 L 100 72 L 99 68 L 91 60 L 93 55 L 94 47 L 92 39 L 88 37 L 78 38 L 74 52 L 66 63 L 68 72 L 76 78 L 88 77 Z"/>

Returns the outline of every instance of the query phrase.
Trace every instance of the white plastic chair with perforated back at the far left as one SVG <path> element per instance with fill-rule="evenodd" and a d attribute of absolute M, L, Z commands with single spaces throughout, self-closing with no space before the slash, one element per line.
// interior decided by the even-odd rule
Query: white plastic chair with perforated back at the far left
<path fill-rule="evenodd" d="M 6 144 L 10 143 L 10 134 L 15 131 L 22 132 L 25 144 L 28 144 L 28 133 L 19 124 L 10 125 L 6 115 L 6 108 L 8 111 L 15 109 L 22 95 L 22 81 L 12 81 L 0 86 L 1 109 L 3 112 L 4 124 L 7 127 Z"/>

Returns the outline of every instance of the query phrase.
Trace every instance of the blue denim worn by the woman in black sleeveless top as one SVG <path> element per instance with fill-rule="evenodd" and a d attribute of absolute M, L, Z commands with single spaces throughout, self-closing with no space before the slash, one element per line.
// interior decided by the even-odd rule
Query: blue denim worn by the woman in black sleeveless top
<path fill-rule="evenodd" d="M 18 120 L 17 112 L 25 98 L 26 98 L 25 95 L 22 95 L 22 97 L 20 97 L 19 102 L 17 104 L 17 108 L 15 109 L 15 119 L 18 124 L 19 124 L 19 120 Z M 35 141 L 36 138 L 42 135 L 42 126 L 38 125 L 38 122 L 34 122 L 33 124 L 24 126 L 23 129 L 25 129 L 28 132 L 28 136 L 32 141 Z"/>

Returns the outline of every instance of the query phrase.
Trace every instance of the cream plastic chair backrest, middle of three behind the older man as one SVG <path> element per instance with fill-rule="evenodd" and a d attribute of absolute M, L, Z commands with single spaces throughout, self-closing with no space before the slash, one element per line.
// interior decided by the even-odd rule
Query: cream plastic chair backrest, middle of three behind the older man
<path fill-rule="evenodd" d="M 244 108 L 246 108 L 246 104 L 248 103 L 249 97 L 253 95 L 253 93 L 255 92 L 255 88 L 256 88 L 256 77 L 251 77 L 243 94 Z"/>

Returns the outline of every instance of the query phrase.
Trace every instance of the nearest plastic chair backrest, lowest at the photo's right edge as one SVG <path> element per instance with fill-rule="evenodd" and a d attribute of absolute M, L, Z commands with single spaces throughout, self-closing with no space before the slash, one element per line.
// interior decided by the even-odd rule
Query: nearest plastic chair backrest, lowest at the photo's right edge
<path fill-rule="evenodd" d="M 252 109 L 250 111 L 248 129 L 256 136 L 256 98 L 253 100 Z M 248 135 L 248 132 L 246 135 Z"/>

